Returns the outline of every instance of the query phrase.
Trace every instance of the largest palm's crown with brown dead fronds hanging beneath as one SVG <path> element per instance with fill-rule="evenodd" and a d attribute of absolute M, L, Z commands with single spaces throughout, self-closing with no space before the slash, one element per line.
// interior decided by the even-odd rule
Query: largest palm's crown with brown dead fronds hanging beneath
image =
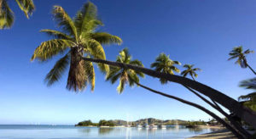
<path fill-rule="evenodd" d="M 91 91 L 95 86 L 94 66 L 85 58 L 106 59 L 102 44 L 121 44 L 119 36 L 113 36 L 107 32 L 97 31 L 102 25 L 102 21 L 97 17 L 97 9 L 93 3 L 85 3 L 71 19 L 61 6 L 54 6 L 54 19 L 61 31 L 42 30 L 52 36 L 53 39 L 42 42 L 34 51 L 31 60 L 38 59 L 46 61 L 55 55 L 65 53 L 60 58 L 53 69 L 45 77 L 48 86 L 61 79 L 67 66 L 69 66 L 67 89 L 74 92 L 84 90 L 90 83 Z M 107 64 L 98 64 L 104 73 L 108 73 Z"/>

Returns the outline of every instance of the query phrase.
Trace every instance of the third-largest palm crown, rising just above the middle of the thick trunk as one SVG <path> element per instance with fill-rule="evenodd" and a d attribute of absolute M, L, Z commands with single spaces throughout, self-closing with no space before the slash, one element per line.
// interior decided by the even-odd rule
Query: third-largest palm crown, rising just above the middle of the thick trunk
<path fill-rule="evenodd" d="M 158 72 L 174 75 L 173 71 L 177 73 L 180 72 L 180 70 L 175 67 L 175 64 L 181 65 L 178 61 L 172 61 L 172 59 L 169 58 L 169 55 L 160 53 L 160 55 L 155 59 L 155 62 L 151 64 L 151 68 L 154 68 L 154 70 Z M 161 84 L 166 84 L 167 80 L 160 78 L 160 82 Z"/>

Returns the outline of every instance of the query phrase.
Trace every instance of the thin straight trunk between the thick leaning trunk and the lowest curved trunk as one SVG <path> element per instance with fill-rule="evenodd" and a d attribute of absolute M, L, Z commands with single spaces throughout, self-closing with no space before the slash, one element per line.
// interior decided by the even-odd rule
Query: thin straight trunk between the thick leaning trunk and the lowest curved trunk
<path fill-rule="evenodd" d="M 197 92 L 195 92 L 194 90 L 192 90 L 191 88 L 189 88 L 188 86 L 184 86 L 186 87 L 190 92 L 193 92 L 197 97 L 200 97 L 204 102 L 208 103 L 210 106 L 212 106 L 212 108 L 215 108 L 216 110 L 218 110 L 218 112 L 220 114 L 223 114 L 228 120 L 230 120 L 231 125 L 235 126 L 236 130 L 241 132 L 241 134 L 243 134 L 244 136 L 247 136 L 247 138 L 250 138 L 252 135 L 249 134 L 244 128 L 241 127 L 241 125 L 239 125 L 236 120 L 233 120 L 233 118 L 227 114 L 226 112 L 224 112 L 224 110 L 222 108 L 220 108 L 218 106 L 218 104 L 212 100 L 211 103 L 210 101 L 208 101 L 205 97 L 202 97 L 200 94 L 198 94 Z"/>

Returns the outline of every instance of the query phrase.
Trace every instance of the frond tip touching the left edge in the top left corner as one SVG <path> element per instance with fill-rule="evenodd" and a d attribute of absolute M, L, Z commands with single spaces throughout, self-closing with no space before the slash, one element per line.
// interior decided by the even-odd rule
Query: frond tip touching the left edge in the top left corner
<path fill-rule="evenodd" d="M 5 0 L 1 0 L 0 4 L 0 29 L 9 29 L 14 24 L 14 12 Z"/>

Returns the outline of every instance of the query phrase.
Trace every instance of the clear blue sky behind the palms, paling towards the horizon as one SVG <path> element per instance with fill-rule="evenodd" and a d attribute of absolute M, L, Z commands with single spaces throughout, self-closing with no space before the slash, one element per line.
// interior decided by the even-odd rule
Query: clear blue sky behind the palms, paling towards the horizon
<path fill-rule="evenodd" d="M 37 1 L 36 12 L 26 19 L 15 3 L 15 25 L 0 31 L 0 124 L 76 124 L 81 120 L 101 119 L 137 120 L 159 119 L 208 120 L 210 116 L 196 108 L 160 97 L 143 88 L 127 86 L 116 92 L 117 84 L 104 81 L 96 70 L 95 92 L 68 92 L 67 74 L 55 86 L 47 87 L 44 76 L 57 58 L 39 64 L 30 58 L 40 42 L 49 39 L 41 29 L 55 29 L 50 14 L 53 5 L 61 5 L 70 16 L 81 8 L 85 0 Z M 237 0 L 94 0 L 108 31 L 120 36 L 122 46 L 105 46 L 109 60 L 114 60 L 124 47 L 133 58 L 146 67 L 160 53 L 182 64 L 195 64 L 202 69 L 196 79 L 230 97 L 237 98 L 250 91 L 238 87 L 241 80 L 253 77 L 249 69 L 241 69 L 227 61 L 232 47 L 243 45 L 255 50 L 256 1 Z M 247 57 L 256 67 L 255 54 Z M 182 69 L 182 67 L 179 67 Z M 157 79 L 146 76 L 143 85 L 167 92 L 189 101 L 205 103 L 175 83 L 160 85 Z M 209 108 L 212 109 L 212 108 Z"/>

